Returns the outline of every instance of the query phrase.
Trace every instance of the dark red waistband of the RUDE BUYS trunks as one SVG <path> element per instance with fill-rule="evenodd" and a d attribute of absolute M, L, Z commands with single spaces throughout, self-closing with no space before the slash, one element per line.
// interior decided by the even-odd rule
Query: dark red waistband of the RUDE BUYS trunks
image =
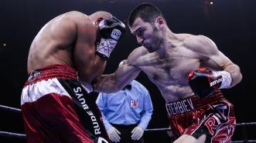
<path fill-rule="evenodd" d="M 38 81 L 50 78 L 77 79 L 77 71 L 68 65 L 49 65 L 39 68 L 29 73 L 29 78 L 25 85 L 34 84 Z"/>

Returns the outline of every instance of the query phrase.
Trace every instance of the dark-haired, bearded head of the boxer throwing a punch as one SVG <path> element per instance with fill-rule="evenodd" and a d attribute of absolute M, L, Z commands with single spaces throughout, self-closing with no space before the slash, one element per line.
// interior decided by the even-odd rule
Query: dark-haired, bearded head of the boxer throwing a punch
<path fill-rule="evenodd" d="M 128 26 L 137 42 L 147 48 L 148 52 L 154 52 L 162 41 L 166 20 L 154 5 L 143 3 L 130 12 Z"/>

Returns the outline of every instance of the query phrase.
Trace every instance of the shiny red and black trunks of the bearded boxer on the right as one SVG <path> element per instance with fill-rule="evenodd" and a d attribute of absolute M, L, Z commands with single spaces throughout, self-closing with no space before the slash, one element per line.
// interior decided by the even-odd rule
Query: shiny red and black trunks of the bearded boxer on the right
<path fill-rule="evenodd" d="M 175 138 L 186 134 L 205 142 L 230 142 L 236 119 L 233 105 L 220 91 L 205 98 L 196 95 L 166 105 L 170 127 Z"/>

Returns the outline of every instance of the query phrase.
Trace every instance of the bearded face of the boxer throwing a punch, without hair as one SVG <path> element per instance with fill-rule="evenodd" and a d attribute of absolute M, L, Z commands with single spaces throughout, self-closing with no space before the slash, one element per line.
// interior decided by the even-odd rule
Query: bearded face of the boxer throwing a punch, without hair
<path fill-rule="evenodd" d="M 138 44 L 147 48 L 148 52 L 155 52 L 160 48 L 161 36 L 154 24 L 144 22 L 142 18 L 136 18 L 130 30 L 131 34 L 136 36 Z"/>

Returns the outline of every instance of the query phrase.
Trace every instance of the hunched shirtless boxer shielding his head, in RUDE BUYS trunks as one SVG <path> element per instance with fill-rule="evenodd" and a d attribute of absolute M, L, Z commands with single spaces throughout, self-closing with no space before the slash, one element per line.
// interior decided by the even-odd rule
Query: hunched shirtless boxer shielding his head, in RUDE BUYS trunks
<path fill-rule="evenodd" d="M 123 32 L 108 12 L 67 12 L 43 26 L 29 50 L 21 97 L 28 142 L 108 142 L 88 96 Z"/>

